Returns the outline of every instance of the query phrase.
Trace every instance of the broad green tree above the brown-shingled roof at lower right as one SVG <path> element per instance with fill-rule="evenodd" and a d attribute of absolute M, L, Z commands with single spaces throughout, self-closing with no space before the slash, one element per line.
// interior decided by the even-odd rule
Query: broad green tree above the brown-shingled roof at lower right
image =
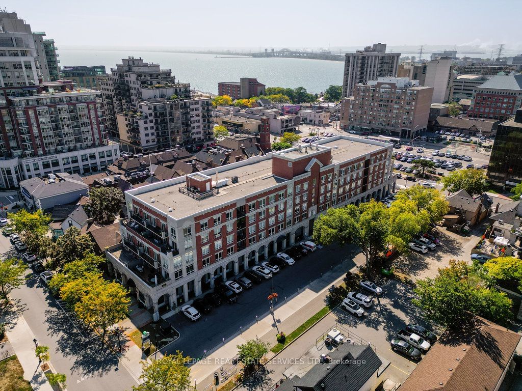
<path fill-rule="evenodd" d="M 503 293 L 481 284 L 472 266 L 450 260 L 435 278 L 418 280 L 412 302 L 424 315 L 448 327 L 458 326 L 476 314 L 505 324 L 512 317 L 512 302 Z"/>

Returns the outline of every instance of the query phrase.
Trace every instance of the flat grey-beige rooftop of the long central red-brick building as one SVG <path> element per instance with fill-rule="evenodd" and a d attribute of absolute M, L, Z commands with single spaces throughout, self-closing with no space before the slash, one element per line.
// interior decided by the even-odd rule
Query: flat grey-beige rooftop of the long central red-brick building
<path fill-rule="evenodd" d="M 387 148 L 383 144 L 369 144 L 341 138 L 329 138 L 322 141 L 323 142 L 320 142 L 319 150 L 325 149 L 325 147 L 332 148 L 331 154 L 334 158 L 334 162 L 349 161 L 360 155 Z M 285 155 L 292 158 L 304 156 L 306 155 L 305 146 L 308 146 L 308 144 L 302 144 L 301 152 L 298 150 L 290 151 L 285 153 Z M 335 146 L 338 148 L 335 148 Z M 310 146 L 308 146 L 307 150 L 309 154 L 317 152 L 315 147 L 311 150 Z M 279 153 L 281 152 L 284 151 L 280 151 Z M 258 161 L 257 157 L 249 160 L 251 160 L 252 163 L 231 167 L 230 169 L 219 172 L 218 179 L 229 178 L 229 185 L 219 188 L 218 194 L 200 201 L 179 191 L 180 188 L 186 185 L 185 180 L 179 182 L 179 179 L 177 179 L 178 182 L 176 184 L 169 185 L 165 183 L 164 187 L 151 189 L 149 191 L 147 191 L 148 186 L 145 186 L 137 190 L 136 193 L 132 190 L 130 193 L 139 201 L 149 204 L 175 219 L 181 219 L 287 182 L 287 179 L 272 175 L 272 158 L 270 156 L 260 161 Z M 216 169 L 206 170 L 203 174 L 210 176 L 212 181 L 216 180 Z M 231 183 L 230 179 L 233 176 L 238 177 L 238 183 Z M 150 185 L 150 187 L 153 186 L 158 186 L 158 184 Z M 151 199 L 155 199 L 155 201 L 151 203 Z M 169 207 L 172 207 L 172 212 L 169 212 Z"/>

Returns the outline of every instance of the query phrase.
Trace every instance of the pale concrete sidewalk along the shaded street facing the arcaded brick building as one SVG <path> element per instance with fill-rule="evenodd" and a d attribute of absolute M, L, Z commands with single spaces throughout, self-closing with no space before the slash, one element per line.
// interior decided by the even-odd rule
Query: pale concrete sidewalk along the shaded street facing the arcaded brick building
<path fill-rule="evenodd" d="M 353 262 L 356 265 L 354 267 L 364 264 L 364 256 L 362 254 L 355 255 Z M 299 294 L 288 298 L 286 303 L 276 307 L 274 317 L 279 331 L 290 334 L 294 329 L 301 326 L 310 317 L 324 308 L 328 288 L 331 285 L 339 285 L 342 282 L 348 271 L 348 264 L 348 261 L 342 262 L 332 271 L 325 273 L 323 277 L 315 279 L 311 284 L 303 288 Z M 340 277 L 331 282 L 333 276 Z M 325 282 L 328 283 L 325 284 Z M 230 360 L 238 354 L 238 345 L 244 344 L 249 339 L 260 338 L 274 346 L 277 343 L 276 334 L 274 318 L 267 312 L 257 323 L 245 329 L 243 333 L 233 336 L 223 346 L 217 347 L 216 350 L 208 353 L 206 360 L 191 366 L 191 379 L 192 382 L 197 384 L 196 389 L 198 391 L 206 389 L 210 384 L 213 384 L 213 374 L 215 372 L 219 373 L 222 366 L 229 368 L 232 365 Z M 274 356 L 274 353 L 269 352 L 267 359 L 269 360 Z"/>

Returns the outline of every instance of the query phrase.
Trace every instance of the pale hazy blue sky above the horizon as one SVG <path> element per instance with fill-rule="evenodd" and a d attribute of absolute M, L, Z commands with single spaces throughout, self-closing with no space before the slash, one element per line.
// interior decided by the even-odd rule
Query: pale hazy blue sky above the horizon
<path fill-rule="evenodd" d="M 6 0 L 57 46 L 477 45 L 522 50 L 519 0 Z"/>

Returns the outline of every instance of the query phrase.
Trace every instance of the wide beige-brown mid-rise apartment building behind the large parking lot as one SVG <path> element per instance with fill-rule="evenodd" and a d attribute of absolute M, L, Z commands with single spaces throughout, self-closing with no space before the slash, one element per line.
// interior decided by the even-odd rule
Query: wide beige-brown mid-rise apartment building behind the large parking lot
<path fill-rule="evenodd" d="M 341 102 L 340 127 L 412 139 L 426 130 L 433 87 L 418 80 L 381 77 L 355 85 Z"/>

